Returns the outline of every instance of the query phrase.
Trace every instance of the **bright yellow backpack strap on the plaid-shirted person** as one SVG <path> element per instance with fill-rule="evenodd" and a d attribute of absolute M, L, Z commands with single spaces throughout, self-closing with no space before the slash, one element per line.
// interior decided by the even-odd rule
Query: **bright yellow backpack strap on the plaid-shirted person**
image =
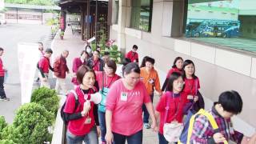
<path fill-rule="evenodd" d="M 212 114 L 210 114 L 209 112 L 207 112 L 206 110 L 200 109 L 197 114 L 194 114 L 190 118 L 190 126 L 189 126 L 189 130 L 188 130 L 188 134 L 187 134 L 186 144 L 190 144 L 190 138 L 191 138 L 192 130 L 193 130 L 193 126 L 194 126 L 194 119 L 199 114 L 202 114 L 202 115 L 206 116 L 206 118 L 209 120 L 210 125 L 213 127 L 213 129 L 218 130 L 218 125 L 217 125 L 217 123 L 214 119 L 214 116 Z M 228 144 L 228 142 L 225 140 L 224 144 Z"/>

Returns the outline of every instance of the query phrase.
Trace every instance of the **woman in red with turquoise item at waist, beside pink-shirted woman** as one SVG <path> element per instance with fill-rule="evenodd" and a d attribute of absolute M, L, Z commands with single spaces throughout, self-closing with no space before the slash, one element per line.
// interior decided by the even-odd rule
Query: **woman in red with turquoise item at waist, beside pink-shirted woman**
<path fill-rule="evenodd" d="M 110 86 L 120 78 L 117 74 L 115 74 L 115 70 L 117 70 L 117 65 L 114 60 L 108 60 L 105 63 L 104 71 L 96 72 L 96 80 L 98 81 L 100 93 L 102 94 L 102 102 L 98 105 L 98 118 L 101 128 L 102 144 L 106 143 L 106 95 L 108 94 Z"/>

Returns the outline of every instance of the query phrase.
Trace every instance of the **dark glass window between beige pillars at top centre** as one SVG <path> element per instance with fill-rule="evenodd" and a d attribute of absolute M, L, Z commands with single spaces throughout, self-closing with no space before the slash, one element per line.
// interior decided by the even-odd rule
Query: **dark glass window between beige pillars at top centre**
<path fill-rule="evenodd" d="M 150 31 L 153 0 L 132 0 L 130 27 Z"/>

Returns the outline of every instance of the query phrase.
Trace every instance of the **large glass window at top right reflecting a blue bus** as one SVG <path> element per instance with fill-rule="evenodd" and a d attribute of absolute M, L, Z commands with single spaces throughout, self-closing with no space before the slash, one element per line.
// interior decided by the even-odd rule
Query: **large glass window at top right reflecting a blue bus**
<path fill-rule="evenodd" d="M 188 0 L 186 37 L 256 52 L 256 1 Z"/>

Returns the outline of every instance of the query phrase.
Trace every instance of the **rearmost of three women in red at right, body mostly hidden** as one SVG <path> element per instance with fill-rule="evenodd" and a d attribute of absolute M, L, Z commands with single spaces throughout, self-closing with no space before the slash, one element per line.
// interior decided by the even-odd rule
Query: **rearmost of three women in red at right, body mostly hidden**
<path fill-rule="evenodd" d="M 166 75 L 166 80 L 162 85 L 162 91 L 165 91 L 166 85 L 168 82 L 168 78 L 170 78 L 170 74 L 173 74 L 173 72 L 178 72 L 182 74 L 182 66 L 183 66 L 183 59 L 182 57 L 177 57 L 174 59 L 174 64 L 171 66 L 171 69 L 169 70 L 168 74 Z"/>

